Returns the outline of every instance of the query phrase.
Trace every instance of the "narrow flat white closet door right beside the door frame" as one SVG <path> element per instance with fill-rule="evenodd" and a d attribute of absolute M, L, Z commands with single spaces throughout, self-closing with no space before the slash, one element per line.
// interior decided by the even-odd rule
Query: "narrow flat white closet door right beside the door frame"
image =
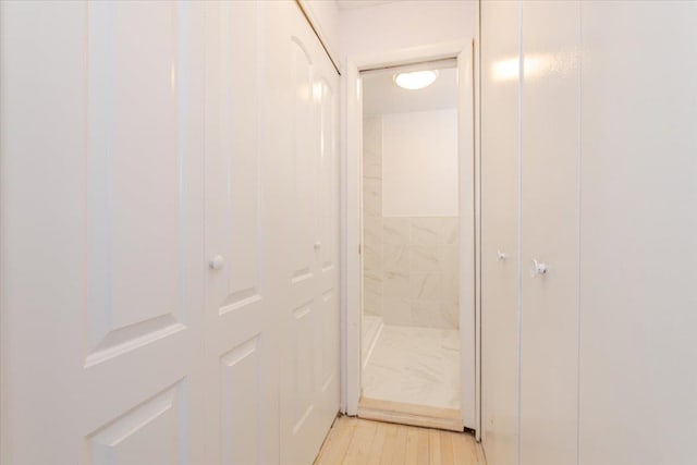
<path fill-rule="evenodd" d="M 490 465 L 518 437 L 518 13 L 481 3 L 481 429 Z"/>

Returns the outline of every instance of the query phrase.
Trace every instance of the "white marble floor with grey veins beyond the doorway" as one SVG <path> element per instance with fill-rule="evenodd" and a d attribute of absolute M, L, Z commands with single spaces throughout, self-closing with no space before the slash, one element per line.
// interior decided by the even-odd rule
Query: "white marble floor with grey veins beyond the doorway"
<path fill-rule="evenodd" d="M 384 325 L 363 369 L 369 399 L 460 408 L 460 331 Z"/>

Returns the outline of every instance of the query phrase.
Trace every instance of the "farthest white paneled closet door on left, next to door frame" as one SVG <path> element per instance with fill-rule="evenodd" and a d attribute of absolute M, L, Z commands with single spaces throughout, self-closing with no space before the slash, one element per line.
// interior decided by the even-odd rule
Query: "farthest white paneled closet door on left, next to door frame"
<path fill-rule="evenodd" d="M 295 2 L 264 12 L 266 144 L 283 174 L 270 194 L 283 206 L 281 462 L 309 464 L 339 409 L 339 79 Z"/>

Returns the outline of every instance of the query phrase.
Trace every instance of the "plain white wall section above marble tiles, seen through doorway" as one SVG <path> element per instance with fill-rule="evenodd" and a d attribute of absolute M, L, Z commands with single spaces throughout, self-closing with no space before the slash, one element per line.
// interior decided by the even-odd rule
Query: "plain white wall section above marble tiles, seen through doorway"
<path fill-rule="evenodd" d="M 457 216 L 457 110 L 382 117 L 382 216 Z"/>

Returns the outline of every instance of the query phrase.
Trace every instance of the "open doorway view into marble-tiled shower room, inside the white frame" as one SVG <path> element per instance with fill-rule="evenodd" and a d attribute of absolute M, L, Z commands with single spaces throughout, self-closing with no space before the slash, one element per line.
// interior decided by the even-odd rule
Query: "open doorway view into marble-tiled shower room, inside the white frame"
<path fill-rule="evenodd" d="M 462 430 L 457 63 L 362 84 L 359 415 Z"/>

